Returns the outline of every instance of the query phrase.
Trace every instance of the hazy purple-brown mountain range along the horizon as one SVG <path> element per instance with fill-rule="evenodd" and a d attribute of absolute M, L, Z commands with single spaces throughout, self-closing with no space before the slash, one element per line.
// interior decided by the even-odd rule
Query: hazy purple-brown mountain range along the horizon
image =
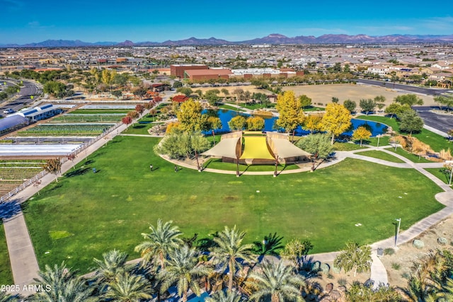
<path fill-rule="evenodd" d="M 270 34 L 253 40 L 231 42 L 215 37 L 198 39 L 190 37 L 185 40 L 167 40 L 164 42 L 83 42 L 81 40 L 46 40 L 24 45 L 0 44 L 0 47 L 90 47 L 90 46 L 190 46 L 190 45 L 254 45 L 254 44 L 373 44 L 373 43 L 449 43 L 453 35 L 313 35 L 287 37 L 280 34 Z"/>

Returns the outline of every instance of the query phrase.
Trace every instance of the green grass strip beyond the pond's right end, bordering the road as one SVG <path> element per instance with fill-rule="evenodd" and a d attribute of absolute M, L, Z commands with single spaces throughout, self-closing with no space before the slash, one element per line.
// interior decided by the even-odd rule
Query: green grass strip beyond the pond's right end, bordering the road
<path fill-rule="evenodd" d="M 389 117 L 377 117 L 373 115 L 362 115 L 360 117 L 361 120 L 372 120 L 374 122 L 380 122 L 382 124 L 386 124 L 390 126 L 394 131 L 399 133 L 399 126 L 396 120 Z M 404 134 L 407 135 L 407 134 Z M 439 134 L 435 134 L 434 132 L 430 132 L 429 130 L 423 128 L 420 133 L 412 134 L 413 137 L 416 137 L 420 141 L 423 141 L 425 144 L 431 146 L 432 150 L 439 152 L 442 149 L 447 150 L 448 148 L 452 148 L 453 144 L 448 141 L 445 137 L 441 137 Z M 452 148 L 453 149 L 453 148 Z"/>

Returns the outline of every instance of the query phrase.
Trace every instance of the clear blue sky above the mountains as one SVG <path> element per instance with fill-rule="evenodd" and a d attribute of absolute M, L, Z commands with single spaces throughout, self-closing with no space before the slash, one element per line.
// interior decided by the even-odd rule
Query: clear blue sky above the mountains
<path fill-rule="evenodd" d="M 418 1 L 0 0 L 0 44 L 297 35 L 452 35 L 453 10 Z M 445 6 L 444 6 L 445 8 Z"/>

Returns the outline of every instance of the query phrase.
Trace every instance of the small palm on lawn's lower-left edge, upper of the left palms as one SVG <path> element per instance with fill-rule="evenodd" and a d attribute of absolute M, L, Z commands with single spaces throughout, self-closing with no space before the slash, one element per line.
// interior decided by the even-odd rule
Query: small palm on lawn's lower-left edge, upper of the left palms
<path fill-rule="evenodd" d="M 115 280 L 118 274 L 132 270 L 132 265 L 126 265 L 126 260 L 127 253 L 119 250 L 110 250 L 103 253 L 103 260 L 93 259 L 96 263 L 94 276 L 101 292 L 105 291 L 108 284 Z"/>

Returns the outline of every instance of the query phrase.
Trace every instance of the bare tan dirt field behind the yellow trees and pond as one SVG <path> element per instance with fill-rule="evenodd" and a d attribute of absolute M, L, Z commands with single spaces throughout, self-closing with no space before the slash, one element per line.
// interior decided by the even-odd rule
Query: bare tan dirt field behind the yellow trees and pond
<path fill-rule="evenodd" d="M 362 98 L 374 98 L 377 95 L 384 95 L 386 98 L 386 105 L 393 102 L 394 98 L 398 95 L 408 94 L 406 91 L 394 91 L 393 89 L 355 85 L 355 84 L 334 84 L 334 85 L 309 85 L 309 86 L 289 86 L 283 87 L 283 91 L 294 91 L 296 95 L 307 95 L 311 98 L 311 103 L 319 105 L 322 103 L 326 105 L 331 103 L 332 97 L 340 99 L 339 103 L 344 100 L 354 100 L 359 105 Z M 424 105 L 435 105 L 432 96 L 418 95 L 423 99 Z"/>

